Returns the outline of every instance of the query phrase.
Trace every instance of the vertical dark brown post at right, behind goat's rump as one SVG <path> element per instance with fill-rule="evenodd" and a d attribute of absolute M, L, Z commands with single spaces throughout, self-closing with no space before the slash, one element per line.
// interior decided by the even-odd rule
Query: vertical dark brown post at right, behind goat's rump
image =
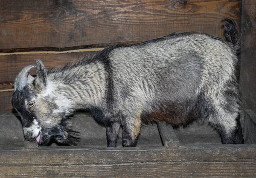
<path fill-rule="evenodd" d="M 256 2 L 242 1 L 241 93 L 244 110 L 256 113 Z"/>

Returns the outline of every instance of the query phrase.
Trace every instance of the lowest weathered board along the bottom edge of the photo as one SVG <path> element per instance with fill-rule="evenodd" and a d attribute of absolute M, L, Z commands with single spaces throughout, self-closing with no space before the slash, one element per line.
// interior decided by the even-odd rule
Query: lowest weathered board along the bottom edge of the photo
<path fill-rule="evenodd" d="M 256 163 L 244 162 L 146 162 L 137 164 L 100 165 L 6 165 L 0 167 L 0 177 L 256 177 Z"/>

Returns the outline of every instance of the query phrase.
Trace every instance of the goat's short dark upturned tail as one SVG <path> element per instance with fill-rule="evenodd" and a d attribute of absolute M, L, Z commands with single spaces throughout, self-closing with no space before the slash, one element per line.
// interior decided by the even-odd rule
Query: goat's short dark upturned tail
<path fill-rule="evenodd" d="M 241 38 L 236 28 L 236 23 L 232 19 L 224 19 L 224 40 L 229 42 L 238 54 L 240 52 Z"/>

